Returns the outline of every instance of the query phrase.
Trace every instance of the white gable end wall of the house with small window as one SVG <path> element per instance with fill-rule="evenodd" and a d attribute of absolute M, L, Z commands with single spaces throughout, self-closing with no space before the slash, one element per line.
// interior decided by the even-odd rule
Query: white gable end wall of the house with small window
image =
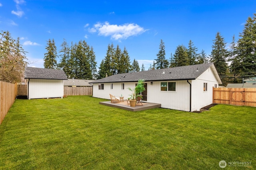
<path fill-rule="evenodd" d="M 204 91 L 204 83 L 207 83 L 207 91 Z M 212 104 L 212 87 L 215 85 L 218 87 L 218 80 L 212 68 L 208 68 L 196 80 L 192 80 L 191 111 L 199 111 L 200 108 Z"/>

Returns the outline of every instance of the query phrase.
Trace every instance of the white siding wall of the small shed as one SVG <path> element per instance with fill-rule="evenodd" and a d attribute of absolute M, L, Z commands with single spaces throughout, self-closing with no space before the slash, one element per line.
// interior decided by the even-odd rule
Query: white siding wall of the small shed
<path fill-rule="evenodd" d="M 63 97 L 63 80 L 30 79 L 28 82 L 28 99 Z"/>

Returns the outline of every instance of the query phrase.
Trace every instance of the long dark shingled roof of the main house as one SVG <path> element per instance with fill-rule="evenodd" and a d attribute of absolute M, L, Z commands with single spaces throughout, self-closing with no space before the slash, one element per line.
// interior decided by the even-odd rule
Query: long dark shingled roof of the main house
<path fill-rule="evenodd" d="M 141 72 L 122 73 L 108 76 L 91 83 L 106 82 L 137 82 L 139 79 L 145 81 L 163 81 L 163 80 L 195 80 L 208 68 L 212 68 L 219 84 L 222 84 L 220 76 L 214 66 L 214 63 L 195 64 L 189 66 L 179 66 L 172 68 L 162 68 L 158 70 L 148 70 Z"/>

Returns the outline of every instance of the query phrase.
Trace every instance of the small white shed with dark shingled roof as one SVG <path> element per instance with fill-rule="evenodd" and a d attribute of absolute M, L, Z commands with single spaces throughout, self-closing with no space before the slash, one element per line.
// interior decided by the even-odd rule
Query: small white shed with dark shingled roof
<path fill-rule="evenodd" d="M 67 77 L 63 70 L 26 67 L 25 79 L 28 84 L 28 99 L 64 96 L 63 80 L 67 80 Z"/>

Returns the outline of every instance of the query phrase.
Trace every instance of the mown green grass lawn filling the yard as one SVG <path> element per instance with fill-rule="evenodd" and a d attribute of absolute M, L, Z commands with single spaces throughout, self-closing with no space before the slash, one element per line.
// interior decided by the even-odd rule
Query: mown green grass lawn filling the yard
<path fill-rule="evenodd" d="M 102 101 L 16 100 L 0 125 L 0 169 L 256 169 L 256 107 L 130 112 Z"/>

